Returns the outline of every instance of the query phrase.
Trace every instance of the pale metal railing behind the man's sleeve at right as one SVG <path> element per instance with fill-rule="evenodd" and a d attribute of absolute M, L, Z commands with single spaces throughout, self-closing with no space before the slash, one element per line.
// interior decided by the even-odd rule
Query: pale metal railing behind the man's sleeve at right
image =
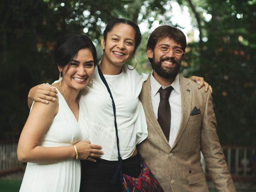
<path fill-rule="evenodd" d="M 250 181 L 255 177 L 255 150 L 255 147 L 222 146 L 233 180 Z M 207 176 L 208 171 L 203 158 L 201 162 Z"/>

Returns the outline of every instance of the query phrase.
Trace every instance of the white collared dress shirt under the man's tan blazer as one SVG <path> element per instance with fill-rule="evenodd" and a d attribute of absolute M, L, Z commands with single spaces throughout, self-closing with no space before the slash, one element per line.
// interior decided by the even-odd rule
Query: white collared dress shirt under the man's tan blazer
<path fill-rule="evenodd" d="M 160 93 L 158 90 L 162 87 L 162 89 L 165 89 L 167 87 L 162 86 L 158 81 L 154 78 L 152 75 L 154 71 L 152 71 L 150 76 L 150 96 L 151 96 L 151 102 L 152 107 L 154 110 L 154 114 L 156 118 L 158 118 L 158 106 L 160 102 Z M 176 76 L 172 84 L 170 85 L 174 88 L 172 90 L 170 97 L 169 97 L 169 103 L 171 107 L 171 127 L 170 127 L 170 137 L 169 137 L 169 144 L 172 147 L 176 136 L 178 134 L 178 130 L 180 127 L 180 121 L 181 121 L 181 95 L 180 95 L 180 76 L 179 74 Z M 168 86 L 169 87 L 169 86 Z"/>

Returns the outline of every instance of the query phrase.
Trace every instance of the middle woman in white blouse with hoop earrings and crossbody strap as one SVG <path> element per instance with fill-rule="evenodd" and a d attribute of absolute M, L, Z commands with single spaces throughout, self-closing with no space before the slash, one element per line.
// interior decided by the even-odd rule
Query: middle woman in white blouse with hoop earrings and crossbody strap
<path fill-rule="evenodd" d="M 99 64 L 112 92 L 116 105 L 116 121 L 123 173 L 137 177 L 140 174 L 136 145 L 147 136 L 144 110 L 138 96 L 148 75 L 141 76 L 126 66 L 140 44 L 141 34 L 133 22 L 121 18 L 110 21 L 101 40 L 103 49 Z M 50 91 L 46 94 L 45 91 Z M 42 84 L 30 90 L 29 98 L 46 103 L 56 96 L 54 88 Z M 88 130 L 84 140 L 102 146 L 104 154 L 97 162 L 81 161 L 80 191 L 122 191 L 121 184 L 110 180 L 117 168 L 118 150 L 114 126 L 112 100 L 95 68 L 91 84 L 82 90 L 79 104 L 86 118 Z"/>

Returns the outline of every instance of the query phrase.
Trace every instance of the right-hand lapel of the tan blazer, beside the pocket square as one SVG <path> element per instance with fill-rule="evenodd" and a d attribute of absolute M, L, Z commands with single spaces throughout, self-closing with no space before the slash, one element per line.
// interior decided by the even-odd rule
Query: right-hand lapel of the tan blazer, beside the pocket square
<path fill-rule="evenodd" d="M 190 88 L 190 81 L 180 75 L 180 94 L 181 94 L 181 121 L 178 134 L 172 145 L 174 148 L 177 142 L 180 140 L 186 126 L 188 124 L 188 119 L 191 112 L 191 102 L 192 102 L 192 90 Z"/>

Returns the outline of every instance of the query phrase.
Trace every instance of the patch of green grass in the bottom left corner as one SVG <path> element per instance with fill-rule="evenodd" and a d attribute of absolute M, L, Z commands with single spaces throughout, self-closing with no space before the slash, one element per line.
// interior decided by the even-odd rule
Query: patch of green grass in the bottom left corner
<path fill-rule="evenodd" d="M 18 192 L 20 190 L 21 180 L 0 180 L 1 192 Z"/>

